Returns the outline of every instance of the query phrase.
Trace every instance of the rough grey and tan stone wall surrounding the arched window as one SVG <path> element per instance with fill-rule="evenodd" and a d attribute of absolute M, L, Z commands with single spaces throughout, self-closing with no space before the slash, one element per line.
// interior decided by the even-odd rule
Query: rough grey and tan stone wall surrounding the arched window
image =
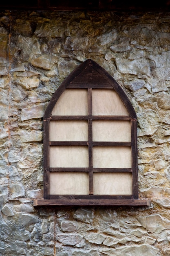
<path fill-rule="evenodd" d="M 42 117 L 92 58 L 138 117 L 139 195 L 150 207 L 33 207 Z M 170 255 L 170 13 L 1 11 L 0 255 Z"/>

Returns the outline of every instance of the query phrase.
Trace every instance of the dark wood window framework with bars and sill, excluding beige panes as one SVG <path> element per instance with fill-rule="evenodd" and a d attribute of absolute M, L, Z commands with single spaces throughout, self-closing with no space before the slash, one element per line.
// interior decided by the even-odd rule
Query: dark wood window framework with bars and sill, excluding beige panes
<path fill-rule="evenodd" d="M 82 88 L 88 90 L 88 115 L 86 116 L 52 116 L 51 112 L 56 101 L 66 88 Z M 114 89 L 123 101 L 129 116 L 93 116 L 92 115 L 92 89 Z M 88 141 L 49 141 L 50 120 L 88 120 Z M 92 139 L 93 120 L 130 120 L 131 142 L 94 142 Z M 88 168 L 50 168 L 50 146 L 88 146 Z M 93 168 L 93 146 L 131 146 L 132 168 Z M 50 195 L 50 172 L 88 172 L 89 195 Z M 132 195 L 93 195 L 93 172 L 131 172 Z M 55 91 L 44 113 L 44 199 L 34 200 L 38 205 L 150 205 L 148 200 L 138 197 L 138 168 L 137 168 L 137 116 L 132 104 L 124 90 L 118 85 L 110 74 L 92 60 L 79 65 Z"/>

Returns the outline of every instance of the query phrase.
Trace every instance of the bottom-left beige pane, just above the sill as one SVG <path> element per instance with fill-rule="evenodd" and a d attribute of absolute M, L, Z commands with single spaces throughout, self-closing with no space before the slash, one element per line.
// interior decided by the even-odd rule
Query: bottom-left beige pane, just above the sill
<path fill-rule="evenodd" d="M 88 173 L 50 173 L 50 194 L 87 195 Z"/>

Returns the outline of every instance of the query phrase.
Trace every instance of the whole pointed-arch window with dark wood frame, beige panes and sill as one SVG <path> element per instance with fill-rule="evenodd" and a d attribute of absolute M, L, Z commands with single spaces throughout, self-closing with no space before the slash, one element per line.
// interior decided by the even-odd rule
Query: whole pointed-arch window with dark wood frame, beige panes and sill
<path fill-rule="evenodd" d="M 44 199 L 36 205 L 149 205 L 138 198 L 137 117 L 102 67 L 87 60 L 44 114 Z"/>

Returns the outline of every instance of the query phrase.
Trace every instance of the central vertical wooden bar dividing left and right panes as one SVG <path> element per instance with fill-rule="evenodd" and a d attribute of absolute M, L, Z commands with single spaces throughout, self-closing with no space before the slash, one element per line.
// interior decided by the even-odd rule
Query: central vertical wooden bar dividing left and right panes
<path fill-rule="evenodd" d="M 92 89 L 88 89 L 88 117 L 92 117 Z M 93 195 L 93 134 L 92 119 L 88 119 L 88 179 L 89 194 Z"/>

